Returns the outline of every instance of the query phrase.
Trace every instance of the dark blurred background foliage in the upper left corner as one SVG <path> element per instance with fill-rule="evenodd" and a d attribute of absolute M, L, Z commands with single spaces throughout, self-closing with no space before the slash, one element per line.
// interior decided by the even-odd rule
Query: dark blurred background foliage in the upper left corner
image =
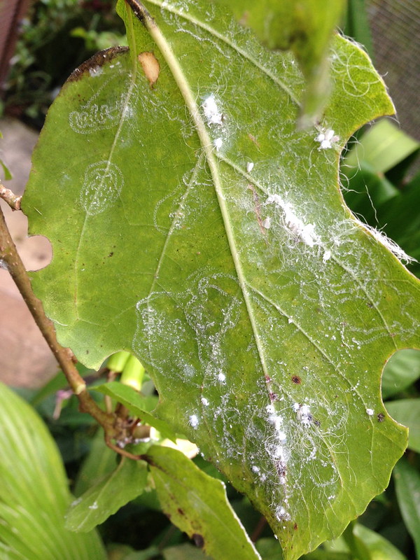
<path fill-rule="evenodd" d="M 69 74 L 98 50 L 126 45 L 113 0 L 37 0 L 20 23 L 1 111 L 41 128 Z"/>

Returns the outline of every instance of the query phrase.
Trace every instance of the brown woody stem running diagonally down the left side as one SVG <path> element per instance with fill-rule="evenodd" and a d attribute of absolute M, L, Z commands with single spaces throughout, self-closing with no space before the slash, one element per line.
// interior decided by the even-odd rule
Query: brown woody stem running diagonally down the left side
<path fill-rule="evenodd" d="M 72 353 L 68 348 L 64 348 L 57 342 L 55 335 L 54 325 L 45 315 L 43 306 L 38 297 L 35 296 L 27 271 L 23 265 L 22 260 L 16 250 L 13 239 L 10 237 L 3 212 L 0 209 L 0 263 L 3 268 L 10 272 L 15 281 L 18 290 L 22 294 L 31 315 L 34 317 L 36 325 L 41 330 L 41 333 L 50 346 L 52 353 L 54 353 L 57 362 L 66 376 L 67 381 L 75 395 L 77 395 L 80 402 L 80 410 L 87 412 L 103 426 L 105 433 L 108 437 L 113 437 L 114 416 L 108 414 L 98 407 L 96 402 L 92 399 L 86 390 L 86 384 L 83 377 L 80 377 L 73 360 Z"/>

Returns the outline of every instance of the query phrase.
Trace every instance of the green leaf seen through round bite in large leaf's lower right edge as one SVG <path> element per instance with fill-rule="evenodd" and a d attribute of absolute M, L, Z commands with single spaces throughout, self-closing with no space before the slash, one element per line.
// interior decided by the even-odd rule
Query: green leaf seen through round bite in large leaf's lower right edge
<path fill-rule="evenodd" d="M 389 358 L 384 367 L 382 397 L 387 399 L 404 391 L 419 377 L 420 352 L 418 350 L 399 350 Z"/>

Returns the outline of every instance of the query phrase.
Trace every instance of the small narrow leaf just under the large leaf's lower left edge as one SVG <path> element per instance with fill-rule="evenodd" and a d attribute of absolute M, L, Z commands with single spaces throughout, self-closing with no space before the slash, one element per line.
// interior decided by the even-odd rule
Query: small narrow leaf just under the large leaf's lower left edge
<path fill-rule="evenodd" d="M 94 391 L 99 391 L 100 393 L 104 393 L 104 395 L 115 398 L 118 402 L 127 407 L 132 414 L 144 421 L 144 423 L 156 428 L 163 437 L 168 437 L 169 440 L 176 442 L 176 434 L 171 426 L 169 426 L 167 422 L 155 418 L 155 416 L 151 414 L 151 410 L 156 405 L 155 398 L 144 397 L 134 388 L 129 385 L 123 385 L 118 381 L 111 381 L 104 385 L 95 386 Z"/>

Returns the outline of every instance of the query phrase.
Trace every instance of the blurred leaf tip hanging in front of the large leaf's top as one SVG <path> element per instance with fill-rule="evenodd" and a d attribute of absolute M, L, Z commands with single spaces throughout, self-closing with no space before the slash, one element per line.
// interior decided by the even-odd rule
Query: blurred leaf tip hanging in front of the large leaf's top
<path fill-rule="evenodd" d="M 321 117 L 330 94 L 328 51 L 345 0 L 218 0 L 251 27 L 269 48 L 291 49 L 305 78 L 300 125 Z"/>

